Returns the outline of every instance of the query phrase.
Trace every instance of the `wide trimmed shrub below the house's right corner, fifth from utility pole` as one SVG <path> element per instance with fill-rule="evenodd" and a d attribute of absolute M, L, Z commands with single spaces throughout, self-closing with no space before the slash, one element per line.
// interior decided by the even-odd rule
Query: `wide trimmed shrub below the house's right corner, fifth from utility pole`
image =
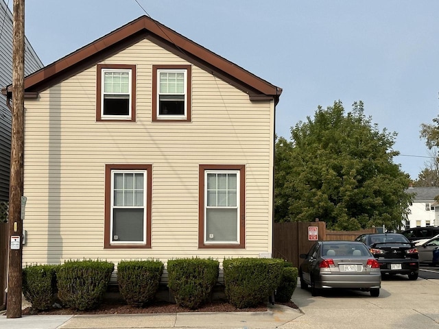
<path fill-rule="evenodd" d="M 224 284 L 228 302 L 237 308 L 248 308 L 267 300 L 279 285 L 283 263 L 283 260 L 273 258 L 225 259 Z"/>

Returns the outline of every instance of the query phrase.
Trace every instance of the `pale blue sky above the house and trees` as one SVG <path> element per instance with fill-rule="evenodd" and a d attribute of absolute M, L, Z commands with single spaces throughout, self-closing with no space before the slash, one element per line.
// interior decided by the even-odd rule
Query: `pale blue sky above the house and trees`
<path fill-rule="evenodd" d="M 12 0 L 5 0 L 12 8 Z M 276 133 L 341 100 L 397 132 L 401 169 L 429 160 L 420 123 L 439 110 L 438 0 L 27 0 L 45 65 L 145 14 L 283 88 Z"/>

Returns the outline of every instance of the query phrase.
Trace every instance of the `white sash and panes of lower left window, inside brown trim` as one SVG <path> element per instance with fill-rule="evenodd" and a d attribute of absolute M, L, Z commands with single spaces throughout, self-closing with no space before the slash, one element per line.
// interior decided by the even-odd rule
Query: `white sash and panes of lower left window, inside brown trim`
<path fill-rule="evenodd" d="M 110 243 L 145 244 L 147 175 L 144 170 L 112 170 Z M 128 224 L 127 224 L 128 222 Z M 131 228 L 130 226 L 137 227 Z M 131 238 L 131 239 L 130 239 Z"/>

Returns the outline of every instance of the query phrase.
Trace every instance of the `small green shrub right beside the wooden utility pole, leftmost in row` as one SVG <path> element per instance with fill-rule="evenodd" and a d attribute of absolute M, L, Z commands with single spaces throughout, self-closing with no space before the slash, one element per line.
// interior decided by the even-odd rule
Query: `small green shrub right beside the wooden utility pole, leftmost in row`
<path fill-rule="evenodd" d="M 47 310 L 54 304 L 57 266 L 31 265 L 23 269 L 23 295 L 35 310 Z"/>

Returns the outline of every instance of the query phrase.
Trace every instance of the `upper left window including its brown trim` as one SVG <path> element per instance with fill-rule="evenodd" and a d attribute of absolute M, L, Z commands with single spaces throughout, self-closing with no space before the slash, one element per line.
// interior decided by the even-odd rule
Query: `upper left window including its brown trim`
<path fill-rule="evenodd" d="M 97 121 L 136 121 L 136 66 L 97 64 Z"/>

